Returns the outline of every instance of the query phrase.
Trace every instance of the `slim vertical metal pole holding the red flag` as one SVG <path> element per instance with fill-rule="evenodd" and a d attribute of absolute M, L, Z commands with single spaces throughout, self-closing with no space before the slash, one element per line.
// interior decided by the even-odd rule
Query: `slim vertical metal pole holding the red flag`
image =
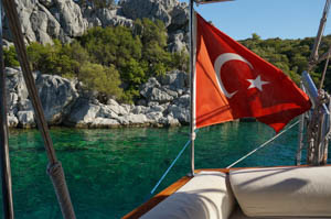
<path fill-rule="evenodd" d="M 190 108 L 190 130 L 191 130 L 191 175 L 194 176 L 194 45 L 193 45 L 193 0 L 190 0 L 190 91 L 191 91 L 191 108 Z"/>

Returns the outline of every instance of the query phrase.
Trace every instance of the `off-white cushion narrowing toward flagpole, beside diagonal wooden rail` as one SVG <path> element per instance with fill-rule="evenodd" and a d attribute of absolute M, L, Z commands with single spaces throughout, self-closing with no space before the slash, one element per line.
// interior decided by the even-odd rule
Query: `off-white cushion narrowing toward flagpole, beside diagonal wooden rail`
<path fill-rule="evenodd" d="M 234 204 L 224 173 L 201 172 L 141 218 L 227 219 Z"/>

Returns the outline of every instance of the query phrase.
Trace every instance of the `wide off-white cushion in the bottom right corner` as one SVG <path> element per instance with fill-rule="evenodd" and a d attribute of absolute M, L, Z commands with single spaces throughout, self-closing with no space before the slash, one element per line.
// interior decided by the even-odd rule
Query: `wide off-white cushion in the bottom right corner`
<path fill-rule="evenodd" d="M 234 171 L 229 182 L 249 217 L 331 217 L 331 166 Z"/>

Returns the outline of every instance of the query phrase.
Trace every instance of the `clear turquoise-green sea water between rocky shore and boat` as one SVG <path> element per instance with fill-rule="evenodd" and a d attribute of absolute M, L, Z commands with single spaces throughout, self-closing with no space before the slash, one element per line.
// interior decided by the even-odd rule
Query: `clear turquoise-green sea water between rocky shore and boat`
<path fill-rule="evenodd" d="M 77 218 L 120 218 L 143 202 L 188 141 L 188 130 L 52 129 Z M 292 165 L 297 130 L 295 127 L 237 166 Z M 274 134 L 271 129 L 256 122 L 204 128 L 196 138 L 195 166 L 225 167 Z M 190 172 L 189 153 L 184 152 L 157 191 Z M 38 130 L 11 130 L 10 157 L 15 218 L 62 218 L 45 174 L 47 160 Z"/>

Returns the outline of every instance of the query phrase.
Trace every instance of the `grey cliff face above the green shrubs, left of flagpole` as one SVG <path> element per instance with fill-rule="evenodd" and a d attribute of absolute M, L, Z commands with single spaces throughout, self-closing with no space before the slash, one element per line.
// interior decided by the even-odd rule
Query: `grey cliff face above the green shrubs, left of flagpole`
<path fill-rule="evenodd" d="M 52 44 L 53 39 L 67 43 L 93 26 L 131 28 L 134 20 L 149 18 L 164 22 L 171 52 L 188 47 L 188 4 L 178 0 L 121 0 L 111 9 L 79 6 L 74 0 L 15 0 L 15 3 L 26 43 Z M 6 18 L 3 36 L 11 42 Z"/>

